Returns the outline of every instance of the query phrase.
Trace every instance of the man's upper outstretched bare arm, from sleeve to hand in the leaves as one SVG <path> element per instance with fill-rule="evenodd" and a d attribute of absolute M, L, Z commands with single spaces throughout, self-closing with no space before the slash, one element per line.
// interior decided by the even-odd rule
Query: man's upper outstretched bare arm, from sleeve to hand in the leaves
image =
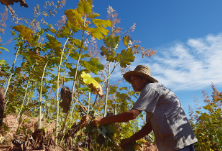
<path fill-rule="evenodd" d="M 115 123 L 115 122 L 127 122 L 129 120 L 135 119 L 141 111 L 137 109 L 132 109 L 114 116 L 109 117 L 97 117 L 95 120 L 93 120 L 91 123 L 93 125 L 99 124 L 99 126 L 102 126 L 104 124 L 108 123 Z"/>

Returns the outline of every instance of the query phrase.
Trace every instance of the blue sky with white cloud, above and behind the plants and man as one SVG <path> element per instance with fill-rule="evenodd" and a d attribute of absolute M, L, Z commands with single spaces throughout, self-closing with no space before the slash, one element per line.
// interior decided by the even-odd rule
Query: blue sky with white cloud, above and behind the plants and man
<path fill-rule="evenodd" d="M 33 7 L 44 4 L 43 0 L 26 2 L 29 8 L 21 8 L 18 3 L 12 6 L 20 17 L 31 17 Z M 67 0 L 56 17 L 50 17 L 50 22 L 55 24 L 64 10 L 75 8 L 77 2 Z M 136 23 L 132 39 L 140 40 L 143 47 L 158 53 L 144 59 L 138 55 L 131 70 L 138 64 L 149 66 L 151 74 L 177 94 L 187 115 L 188 105 L 194 107 L 194 95 L 199 98 L 199 104 L 204 105 L 201 92 L 206 90 L 211 95 L 212 82 L 221 91 L 221 0 L 96 0 L 93 4 L 93 10 L 103 19 L 107 16 L 108 6 L 112 6 L 121 18 L 119 26 L 125 30 Z M 4 6 L 0 5 L 0 13 L 3 10 Z M 7 25 L 10 26 L 10 20 Z M 9 31 L 7 29 L 6 34 L 0 36 L 9 39 Z M 10 52 L 2 53 L 1 59 L 12 61 L 15 51 L 11 46 L 6 46 Z M 121 78 L 118 70 L 111 79 L 117 78 Z M 115 83 L 115 80 L 112 82 Z"/>

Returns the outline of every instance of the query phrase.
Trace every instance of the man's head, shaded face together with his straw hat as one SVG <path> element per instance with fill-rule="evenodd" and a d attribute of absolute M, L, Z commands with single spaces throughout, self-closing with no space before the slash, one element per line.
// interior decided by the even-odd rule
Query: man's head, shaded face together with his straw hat
<path fill-rule="evenodd" d="M 142 91 L 147 83 L 158 82 L 151 77 L 150 68 L 144 65 L 138 65 L 134 71 L 126 72 L 123 77 L 132 84 L 134 91 L 139 92 Z"/>

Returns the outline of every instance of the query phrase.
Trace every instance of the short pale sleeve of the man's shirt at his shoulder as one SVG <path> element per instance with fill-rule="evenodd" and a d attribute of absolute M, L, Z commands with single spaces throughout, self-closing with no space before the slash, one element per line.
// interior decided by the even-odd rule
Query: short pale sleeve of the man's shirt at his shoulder
<path fill-rule="evenodd" d="M 153 113 L 160 95 L 152 87 L 146 85 L 141 91 L 139 99 L 134 104 L 133 108 Z"/>

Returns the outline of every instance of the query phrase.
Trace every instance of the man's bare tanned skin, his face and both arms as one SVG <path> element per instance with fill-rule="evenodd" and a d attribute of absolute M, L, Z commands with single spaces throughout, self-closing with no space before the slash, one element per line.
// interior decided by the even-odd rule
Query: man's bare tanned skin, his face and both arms
<path fill-rule="evenodd" d="M 141 92 L 143 90 L 143 88 L 146 86 L 146 84 L 148 83 L 148 80 L 144 77 L 132 75 L 130 83 L 131 83 L 133 90 L 135 92 Z M 91 122 L 91 124 L 93 124 L 95 126 L 97 124 L 99 124 L 99 126 L 102 126 L 102 125 L 108 124 L 108 123 L 127 122 L 129 120 L 135 119 L 140 113 L 141 113 L 140 110 L 131 109 L 129 111 L 126 111 L 126 112 L 123 112 L 123 113 L 120 113 L 120 114 L 117 114 L 114 116 L 109 116 L 109 117 L 99 116 L 99 117 L 95 118 Z M 146 136 L 151 131 L 152 131 L 152 126 L 147 123 L 143 126 L 143 128 L 139 132 L 135 133 L 130 138 L 124 139 L 123 142 L 120 144 L 120 146 L 124 149 L 128 146 L 128 144 L 130 142 L 133 142 L 135 140 L 138 140 L 138 139 Z"/>

